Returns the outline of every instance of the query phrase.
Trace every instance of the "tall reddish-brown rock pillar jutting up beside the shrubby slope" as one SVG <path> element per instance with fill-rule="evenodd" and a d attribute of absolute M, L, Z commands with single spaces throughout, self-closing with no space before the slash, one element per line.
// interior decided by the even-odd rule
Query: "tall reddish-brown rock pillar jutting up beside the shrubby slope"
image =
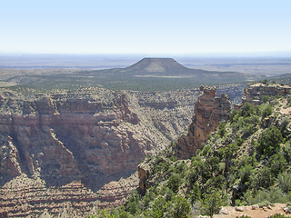
<path fill-rule="evenodd" d="M 206 143 L 208 134 L 228 119 L 230 111 L 231 103 L 226 94 L 216 97 L 215 87 L 201 85 L 193 122 L 189 125 L 188 133 L 180 136 L 176 142 L 176 157 L 187 159 L 193 156 L 201 144 Z"/>

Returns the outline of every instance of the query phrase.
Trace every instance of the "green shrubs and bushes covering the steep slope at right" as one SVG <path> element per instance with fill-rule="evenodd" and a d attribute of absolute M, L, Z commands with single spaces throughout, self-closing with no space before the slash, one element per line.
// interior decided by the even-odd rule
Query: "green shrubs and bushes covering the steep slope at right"
<path fill-rule="evenodd" d="M 172 155 L 146 159 L 144 163 L 155 163 L 150 171 L 155 183 L 140 196 L 139 214 L 187 217 L 201 213 L 212 217 L 223 205 L 268 206 L 291 201 L 291 145 L 286 140 L 291 133 L 284 132 L 289 120 L 276 114 L 274 108 L 280 104 L 271 97 L 265 102 L 260 106 L 245 104 L 234 111 L 191 160 L 176 160 Z M 268 122 L 273 123 L 264 126 L 270 116 L 274 118 Z M 178 212 L 169 205 L 192 209 L 176 209 L 185 212 L 176 216 Z"/>

